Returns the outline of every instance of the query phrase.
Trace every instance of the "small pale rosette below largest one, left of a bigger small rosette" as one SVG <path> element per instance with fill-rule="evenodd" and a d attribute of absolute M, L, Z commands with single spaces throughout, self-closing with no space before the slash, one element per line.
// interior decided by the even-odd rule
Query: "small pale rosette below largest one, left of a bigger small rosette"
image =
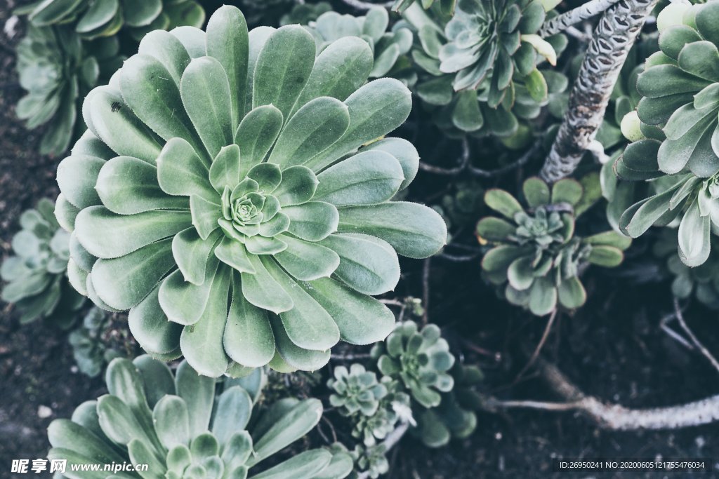
<path fill-rule="evenodd" d="M 329 404 L 345 416 L 374 415 L 380 400 L 388 393 L 387 387 L 377 381 L 377 375 L 359 363 L 349 366 L 349 370 L 344 366 L 334 368 L 334 378 L 327 381 L 327 387 L 334 391 L 329 396 Z"/>

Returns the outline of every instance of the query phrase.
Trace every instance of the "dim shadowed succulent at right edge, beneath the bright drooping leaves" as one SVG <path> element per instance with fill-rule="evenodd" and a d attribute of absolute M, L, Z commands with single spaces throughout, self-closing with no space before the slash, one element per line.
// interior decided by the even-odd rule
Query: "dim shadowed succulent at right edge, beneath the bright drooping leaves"
<path fill-rule="evenodd" d="M 700 266 L 690 268 L 677 256 L 677 233 L 672 228 L 662 228 L 652 251 L 654 255 L 667 261 L 667 269 L 674 276 L 672 294 L 680 299 L 696 297 L 702 304 L 713 310 L 719 310 L 719 256 L 717 239 L 713 237 L 715 249 L 707 261 Z"/>

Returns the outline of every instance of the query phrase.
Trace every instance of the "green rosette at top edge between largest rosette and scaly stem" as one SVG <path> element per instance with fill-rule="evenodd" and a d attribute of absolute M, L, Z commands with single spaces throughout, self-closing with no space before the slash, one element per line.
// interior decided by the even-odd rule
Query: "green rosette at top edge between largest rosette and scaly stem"
<path fill-rule="evenodd" d="M 537 118 L 542 107 L 566 90 L 566 76 L 537 65 L 545 59 L 554 63 L 567 38 L 523 33 L 529 31 L 526 25 L 536 32 L 544 21 L 538 1 L 469 1 L 446 23 L 432 13 L 411 6 L 404 18 L 416 33 L 416 94 L 445 134 L 521 136 L 527 129 L 521 121 Z M 512 32 L 502 32 L 503 42 L 492 33 L 493 15 L 514 25 Z M 484 26 L 477 24 L 485 20 Z"/>

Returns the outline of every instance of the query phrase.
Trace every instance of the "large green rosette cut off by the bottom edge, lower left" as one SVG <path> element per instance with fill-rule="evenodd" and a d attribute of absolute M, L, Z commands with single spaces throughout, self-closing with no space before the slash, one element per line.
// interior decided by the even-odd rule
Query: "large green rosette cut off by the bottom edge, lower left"
<path fill-rule="evenodd" d="M 105 478 L 108 473 L 72 471 L 73 465 L 98 462 L 147 465 L 144 472 L 124 472 L 125 478 L 342 479 L 352 470 L 352 458 L 340 451 L 275 457 L 317 425 L 317 399 L 281 399 L 260 408 L 257 391 L 247 386 L 218 388 L 186 361 L 173 375 L 147 355 L 114 359 L 106 384 L 109 394 L 84 402 L 72 419 L 55 419 L 47 429 L 47 457 L 68 460 L 64 477 Z M 257 473 L 270 458 L 275 465 Z"/>

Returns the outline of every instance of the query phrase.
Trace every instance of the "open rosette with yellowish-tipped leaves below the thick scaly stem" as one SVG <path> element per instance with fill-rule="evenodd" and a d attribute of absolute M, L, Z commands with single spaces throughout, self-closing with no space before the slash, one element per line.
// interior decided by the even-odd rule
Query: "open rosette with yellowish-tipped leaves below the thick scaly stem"
<path fill-rule="evenodd" d="M 574 221 L 599 195 L 594 175 L 585 185 L 572 179 L 548 185 L 537 177 L 523 184 L 525 209 L 504 190 L 488 190 L 487 206 L 504 218 L 482 218 L 477 235 L 495 246 L 482 259 L 487 279 L 506 284 L 508 302 L 546 315 L 559 304 L 574 309 L 587 299 L 579 269 L 582 264 L 618 266 L 629 238 L 607 231 L 587 238 L 574 234 Z"/>

